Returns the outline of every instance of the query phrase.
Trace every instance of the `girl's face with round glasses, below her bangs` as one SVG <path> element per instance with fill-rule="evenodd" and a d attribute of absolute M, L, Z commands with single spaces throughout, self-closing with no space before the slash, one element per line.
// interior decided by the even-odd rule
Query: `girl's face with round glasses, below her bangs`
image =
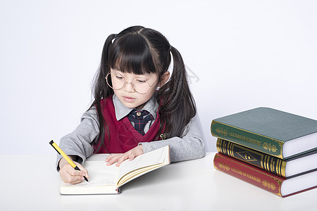
<path fill-rule="evenodd" d="M 156 91 L 156 87 L 159 84 L 158 75 L 154 73 L 146 73 L 144 75 L 135 75 L 133 73 L 128 72 L 120 72 L 119 70 L 111 69 L 111 82 L 112 87 L 116 87 L 120 83 L 124 83 L 124 87 L 121 89 L 113 89 L 114 94 L 120 100 L 121 103 L 127 108 L 138 108 L 142 109 L 144 104 L 149 101 L 151 96 L 153 96 L 154 92 Z M 146 81 L 145 81 L 145 80 Z M 138 91 L 144 90 L 144 84 L 146 84 L 147 93 L 140 94 L 138 92 L 146 92 L 146 91 Z M 134 86 L 134 87 L 132 87 Z M 143 88 L 142 88 L 143 86 Z M 137 90 L 137 91 L 135 91 Z"/>

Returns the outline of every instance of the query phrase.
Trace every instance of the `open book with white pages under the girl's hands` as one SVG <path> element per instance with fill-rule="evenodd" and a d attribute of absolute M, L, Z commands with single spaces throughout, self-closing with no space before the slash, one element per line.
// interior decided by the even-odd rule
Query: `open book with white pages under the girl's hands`
<path fill-rule="evenodd" d="M 134 160 L 125 160 L 120 167 L 106 165 L 106 154 L 88 158 L 84 167 L 89 172 L 89 181 L 80 184 L 61 185 L 61 195 L 118 194 L 120 188 L 137 177 L 170 164 L 170 148 L 165 146 L 144 153 Z"/>

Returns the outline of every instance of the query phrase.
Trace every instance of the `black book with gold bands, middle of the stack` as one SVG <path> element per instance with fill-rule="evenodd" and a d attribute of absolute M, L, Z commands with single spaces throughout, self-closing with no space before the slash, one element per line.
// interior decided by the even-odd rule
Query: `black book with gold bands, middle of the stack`
<path fill-rule="evenodd" d="M 286 179 L 317 170 L 317 151 L 282 160 L 220 138 L 217 139 L 217 150 Z"/>

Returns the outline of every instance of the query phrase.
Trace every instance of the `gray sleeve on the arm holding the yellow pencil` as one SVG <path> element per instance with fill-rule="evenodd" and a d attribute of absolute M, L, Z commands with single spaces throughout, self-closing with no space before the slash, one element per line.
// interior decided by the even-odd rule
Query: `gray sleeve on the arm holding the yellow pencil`
<path fill-rule="evenodd" d="M 70 134 L 63 136 L 59 142 L 60 148 L 66 155 L 75 155 L 77 162 L 83 163 L 92 153 L 92 142 L 97 139 L 99 134 L 99 122 L 97 110 L 93 106 L 85 112 L 80 120 L 80 124 Z M 59 170 L 58 163 L 61 155 L 57 155 L 56 169 Z"/>

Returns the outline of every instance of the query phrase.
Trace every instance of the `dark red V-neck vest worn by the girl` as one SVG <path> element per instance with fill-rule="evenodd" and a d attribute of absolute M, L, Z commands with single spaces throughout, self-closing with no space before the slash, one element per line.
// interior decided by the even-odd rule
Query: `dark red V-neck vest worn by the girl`
<path fill-rule="evenodd" d="M 116 119 L 112 96 L 101 99 L 100 104 L 102 116 L 106 120 L 108 129 L 105 126 L 104 146 L 101 146 L 101 149 L 97 151 L 99 144 L 94 144 L 93 147 L 94 151 L 97 151 L 96 153 L 125 153 L 135 148 L 140 142 L 154 141 L 160 127 L 159 110 L 156 113 L 156 120 L 149 128 L 149 131 L 142 136 L 132 126 L 128 117 L 123 117 L 119 121 Z M 110 132 L 110 141 L 108 140 L 108 131 Z"/>

